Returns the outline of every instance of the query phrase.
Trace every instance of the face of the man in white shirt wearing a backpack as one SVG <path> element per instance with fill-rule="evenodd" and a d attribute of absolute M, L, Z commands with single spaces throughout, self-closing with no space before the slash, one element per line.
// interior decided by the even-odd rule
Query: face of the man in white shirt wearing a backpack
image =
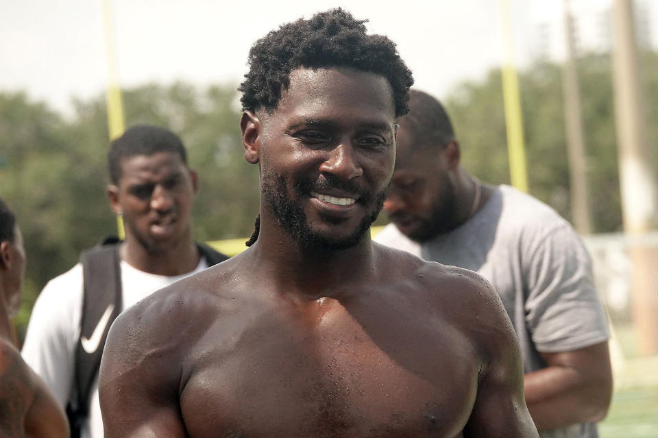
<path fill-rule="evenodd" d="M 196 191 L 195 173 L 168 152 L 122 159 L 119 184 L 108 187 L 112 209 L 123 214 L 126 236 L 149 253 L 173 248 L 188 236 Z"/>

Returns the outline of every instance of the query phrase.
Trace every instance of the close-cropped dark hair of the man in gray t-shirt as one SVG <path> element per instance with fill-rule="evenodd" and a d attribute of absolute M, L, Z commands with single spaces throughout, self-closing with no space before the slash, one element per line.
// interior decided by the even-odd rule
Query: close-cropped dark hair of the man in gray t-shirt
<path fill-rule="evenodd" d="M 448 113 L 434 97 L 420 90 L 411 90 L 409 114 L 400 118 L 416 147 L 443 148 L 454 140 L 454 130 Z"/>

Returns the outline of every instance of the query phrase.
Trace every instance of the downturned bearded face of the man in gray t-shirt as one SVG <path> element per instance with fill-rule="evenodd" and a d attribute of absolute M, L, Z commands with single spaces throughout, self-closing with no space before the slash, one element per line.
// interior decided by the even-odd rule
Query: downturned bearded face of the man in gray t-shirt
<path fill-rule="evenodd" d="M 456 195 L 443 157 L 444 149 L 417 147 L 403 122 L 398 129 L 398 157 L 384 211 L 400 232 L 424 242 L 454 227 Z"/>

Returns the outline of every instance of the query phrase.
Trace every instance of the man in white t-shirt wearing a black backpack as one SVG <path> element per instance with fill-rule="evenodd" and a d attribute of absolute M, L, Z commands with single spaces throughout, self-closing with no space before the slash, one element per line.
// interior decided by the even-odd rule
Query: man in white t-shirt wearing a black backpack
<path fill-rule="evenodd" d="M 123 216 L 125 224 L 125 242 L 116 247 L 123 309 L 226 259 L 193 240 L 190 211 L 197 192 L 197 175 L 187 166 L 186 151 L 178 136 L 160 127 L 131 127 L 112 142 L 108 170 L 110 205 L 115 214 Z M 110 323 L 111 310 L 93 322 L 93 334 L 81 335 L 83 296 L 83 268 L 78 263 L 42 290 L 23 345 L 23 358 L 62 407 L 72 400 L 78 343 L 90 354 L 102 351 L 101 335 Z M 88 408 L 88 418 L 82 421 L 81 436 L 102 437 L 97 371 L 88 406 L 84 407 Z M 77 434 L 75 424 L 72 433 Z"/>

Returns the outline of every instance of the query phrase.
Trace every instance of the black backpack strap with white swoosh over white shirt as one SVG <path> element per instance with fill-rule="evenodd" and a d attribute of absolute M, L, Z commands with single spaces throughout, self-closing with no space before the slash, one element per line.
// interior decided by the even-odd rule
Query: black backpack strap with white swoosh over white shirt
<path fill-rule="evenodd" d="M 110 325 L 122 307 L 119 245 L 85 250 L 80 262 L 84 274 L 80 338 L 75 346 L 73 393 L 66 407 L 73 438 L 80 436 L 80 428 L 89 415 L 90 392 L 101 365 L 103 347 Z"/>

